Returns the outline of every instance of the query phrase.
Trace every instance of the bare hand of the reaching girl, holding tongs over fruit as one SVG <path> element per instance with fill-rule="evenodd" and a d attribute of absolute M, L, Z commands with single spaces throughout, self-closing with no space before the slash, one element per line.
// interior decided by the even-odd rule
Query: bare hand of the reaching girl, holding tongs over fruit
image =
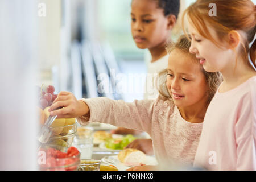
<path fill-rule="evenodd" d="M 54 110 L 57 107 L 63 108 Z M 58 115 L 57 118 L 76 118 L 88 114 L 89 107 L 84 101 L 77 101 L 71 92 L 60 92 L 49 108 L 49 112 L 51 115 Z"/>

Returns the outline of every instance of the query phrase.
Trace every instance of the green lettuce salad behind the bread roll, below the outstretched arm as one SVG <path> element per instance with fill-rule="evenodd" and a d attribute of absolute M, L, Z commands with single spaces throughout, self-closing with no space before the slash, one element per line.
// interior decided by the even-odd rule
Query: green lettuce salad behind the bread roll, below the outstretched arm
<path fill-rule="evenodd" d="M 123 138 L 109 138 L 106 140 L 105 146 L 106 148 L 113 150 L 122 150 L 135 139 L 136 138 L 131 134 L 128 134 Z"/>

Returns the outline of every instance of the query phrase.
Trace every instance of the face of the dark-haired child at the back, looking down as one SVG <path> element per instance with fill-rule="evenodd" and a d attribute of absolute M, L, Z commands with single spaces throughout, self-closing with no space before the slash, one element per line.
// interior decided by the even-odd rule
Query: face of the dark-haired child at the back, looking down
<path fill-rule="evenodd" d="M 165 43 L 172 28 L 168 24 L 164 10 L 158 8 L 158 1 L 132 1 L 131 34 L 138 48 L 151 49 Z"/>

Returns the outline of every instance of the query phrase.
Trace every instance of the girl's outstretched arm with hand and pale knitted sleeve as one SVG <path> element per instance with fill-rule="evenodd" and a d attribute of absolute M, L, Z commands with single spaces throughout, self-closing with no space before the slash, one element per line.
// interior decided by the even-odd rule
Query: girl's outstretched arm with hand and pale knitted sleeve
<path fill-rule="evenodd" d="M 60 92 L 49 111 L 51 115 L 58 115 L 58 118 L 76 117 L 82 125 L 102 122 L 151 134 L 154 103 L 154 100 L 127 103 L 106 97 L 77 100 L 71 92 Z M 63 108 L 54 110 L 57 107 Z"/>

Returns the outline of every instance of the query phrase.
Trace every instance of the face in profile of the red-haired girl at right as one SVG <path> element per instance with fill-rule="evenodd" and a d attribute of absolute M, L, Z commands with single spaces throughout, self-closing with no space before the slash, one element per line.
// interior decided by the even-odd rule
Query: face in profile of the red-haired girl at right
<path fill-rule="evenodd" d="M 230 58 L 234 56 L 231 49 L 225 46 L 216 46 L 212 41 L 201 36 L 191 23 L 188 25 L 188 30 L 191 35 L 191 47 L 189 48 L 189 52 L 196 55 L 200 64 L 203 64 L 205 71 L 217 72 L 228 67 L 229 61 L 231 60 Z M 208 30 L 213 39 L 220 42 L 213 28 L 208 26 Z"/>

